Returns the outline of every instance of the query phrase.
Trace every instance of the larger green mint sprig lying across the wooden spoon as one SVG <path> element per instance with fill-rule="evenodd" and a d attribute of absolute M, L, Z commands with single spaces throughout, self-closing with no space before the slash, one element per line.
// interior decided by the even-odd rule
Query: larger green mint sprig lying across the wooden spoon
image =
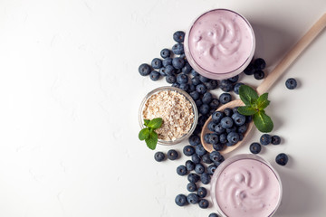
<path fill-rule="evenodd" d="M 269 133 L 273 130 L 273 121 L 266 115 L 264 109 L 270 104 L 268 93 L 258 96 L 257 92 L 247 85 L 239 88 L 240 99 L 245 106 L 239 107 L 238 112 L 245 116 L 254 116 L 254 126 L 263 133 Z"/>

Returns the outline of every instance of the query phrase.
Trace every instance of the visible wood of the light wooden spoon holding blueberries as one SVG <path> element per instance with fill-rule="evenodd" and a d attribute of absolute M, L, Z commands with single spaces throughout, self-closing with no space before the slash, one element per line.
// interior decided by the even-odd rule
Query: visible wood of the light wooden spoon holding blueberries
<path fill-rule="evenodd" d="M 323 28 L 325 26 L 326 26 L 326 14 L 323 14 L 321 16 L 321 18 L 315 24 L 312 25 L 312 28 L 307 33 L 305 33 L 303 35 L 302 39 L 292 47 L 292 50 L 284 56 L 283 60 L 278 63 L 278 65 L 266 77 L 266 79 L 264 79 L 264 81 L 257 87 L 256 91 L 257 91 L 258 95 L 263 94 L 264 92 L 266 92 L 273 86 L 273 83 L 281 77 L 283 72 L 289 68 L 289 66 L 292 64 L 292 62 L 295 61 L 295 59 L 316 38 L 316 36 L 319 33 L 321 33 L 321 30 L 323 30 Z M 245 104 L 243 103 L 243 101 L 241 99 L 236 99 L 236 100 L 226 103 L 225 105 L 221 106 L 217 110 L 220 111 L 220 110 L 224 110 L 225 108 L 235 108 L 235 107 L 244 106 L 244 105 Z M 212 118 L 209 117 L 206 120 L 206 123 L 202 129 L 201 136 L 200 136 L 201 142 L 202 142 L 203 146 L 205 147 L 206 151 L 208 151 L 208 152 L 214 151 L 213 146 L 211 144 L 207 144 L 204 140 L 204 136 L 207 133 L 212 133 L 207 128 L 207 125 L 211 119 Z M 244 139 L 242 141 L 239 141 L 238 143 L 236 143 L 234 146 L 226 146 L 225 149 L 220 151 L 220 153 L 221 154 L 229 153 L 229 152 L 235 150 L 235 148 L 237 148 L 238 146 L 240 146 L 245 141 L 245 138 L 250 133 L 253 126 L 254 126 L 254 121 L 251 121 L 248 124 L 248 128 L 247 128 L 247 131 L 245 132 Z"/>

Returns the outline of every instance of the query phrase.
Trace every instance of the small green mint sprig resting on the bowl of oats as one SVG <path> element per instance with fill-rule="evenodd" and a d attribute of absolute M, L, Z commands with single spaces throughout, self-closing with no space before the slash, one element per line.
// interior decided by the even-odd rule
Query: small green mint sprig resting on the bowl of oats
<path fill-rule="evenodd" d="M 158 144 L 158 134 L 156 129 L 162 126 L 162 118 L 154 118 L 152 120 L 144 119 L 144 126 L 139 132 L 139 139 L 145 140 L 146 145 L 154 150 Z"/>

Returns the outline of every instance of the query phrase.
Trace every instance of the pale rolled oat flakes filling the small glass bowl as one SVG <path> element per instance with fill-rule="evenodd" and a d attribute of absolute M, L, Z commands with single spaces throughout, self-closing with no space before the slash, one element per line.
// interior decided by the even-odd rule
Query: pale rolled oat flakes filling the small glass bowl
<path fill-rule="evenodd" d="M 176 140 L 190 130 L 194 111 L 185 96 L 174 90 L 162 90 L 152 95 L 143 109 L 144 119 L 162 118 L 162 127 L 155 131 L 158 139 Z"/>

